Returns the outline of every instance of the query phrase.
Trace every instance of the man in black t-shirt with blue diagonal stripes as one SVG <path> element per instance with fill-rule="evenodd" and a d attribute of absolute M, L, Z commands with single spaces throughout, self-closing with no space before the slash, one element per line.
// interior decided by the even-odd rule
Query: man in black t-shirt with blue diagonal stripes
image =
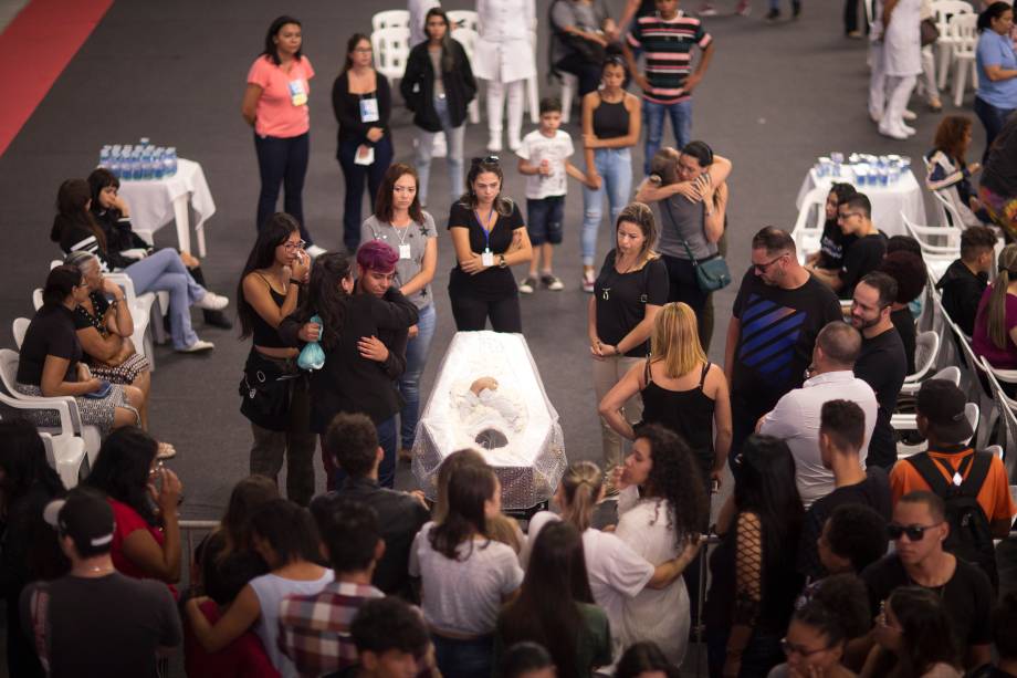
<path fill-rule="evenodd" d="M 801 386 L 816 335 L 840 319 L 837 296 L 798 263 L 787 232 L 766 227 L 753 237 L 724 351 L 734 428 L 728 459 L 759 417 Z"/>

